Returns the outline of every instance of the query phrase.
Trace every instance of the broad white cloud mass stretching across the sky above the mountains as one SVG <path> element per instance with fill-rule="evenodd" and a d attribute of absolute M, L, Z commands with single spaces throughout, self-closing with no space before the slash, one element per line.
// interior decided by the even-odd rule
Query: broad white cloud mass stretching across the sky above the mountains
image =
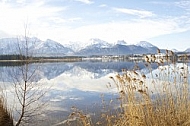
<path fill-rule="evenodd" d="M 124 39 L 127 43 L 136 43 L 141 40 L 190 29 L 188 27 L 188 16 L 156 19 L 158 16 L 149 11 L 114 8 L 117 12 L 136 15 L 140 19 L 124 20 L 119 19 L 119 17 L 117 21 L 90 24 L 88 20 L 85 20 L 85 17 L 80 18 L 80 15 L 63 18 L 64 14 L 67 13 L 63 14 L 62 12 L 67 9 L 67 7 L 47 6 L 43 1 L 38 2 L 37 0 L 19 7 L 13 7 L 11 3 L 0 3 L 0 37 L 8 36 L 5 33 L 16 36 L 23 34 L 23 25 L 27 20 L 29 31 L 34 36 L 42 40 L 53 39 L 62 44 L 69 41 L 85 43 L 91 38 L 100 38 L 110 43 L 121 39 Z M 152 16 L 155 17 L 146 18 Z M 84 25 L 86 22 L 89 25 Z"/>

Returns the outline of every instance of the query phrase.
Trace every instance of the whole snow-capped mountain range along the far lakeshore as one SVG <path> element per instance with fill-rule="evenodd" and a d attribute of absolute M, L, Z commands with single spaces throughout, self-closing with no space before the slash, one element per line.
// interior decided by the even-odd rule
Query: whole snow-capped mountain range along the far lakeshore
<path fill-rule="evenodd" d="M 27 40 L 27 45 L 26 45 Z M 135 45 L 129 45 L 124 40 L 119 40 L 115 44 L 110 44 L 98 38 L 90 39 L 88 44 L 71 42 L 62 45 L 59 42 L 47 39 L 42 41 L 38 38 L 3 38 L 0 39 L 0 55 L 19 54 L 28 47 L 29 53 L 33 56 L 65 56 L 65 55 L 127 55 L 127 54 L 147 54 L 156 53 L 158 47 L 149 42 L 141 41 Z M 20 51 L 19 51 L 20 50 Z M 175 49 L 174 49 L 175 50 Z M 161 51 L 163 51 L 161 49 Z M 177 52 L 177 50 L 175 50 Z M 190 48 L 185 50 L 190 52 Z"/>

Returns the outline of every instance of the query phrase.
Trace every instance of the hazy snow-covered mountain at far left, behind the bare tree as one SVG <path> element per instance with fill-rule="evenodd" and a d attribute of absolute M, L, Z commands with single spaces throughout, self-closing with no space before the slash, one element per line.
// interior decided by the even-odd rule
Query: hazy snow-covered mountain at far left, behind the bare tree
<path fill-rule="evenodd" d="M 27 39 L 27 40 L 26 40 Z M 73 53 L 73 50 L 66 48 L 52 40 L 41 41 L 38 38 L 4 38 L 0 39 L 1 54 L 20 54 L 19 50 L 27 48 L 33 56 L 63 56 Z"/>

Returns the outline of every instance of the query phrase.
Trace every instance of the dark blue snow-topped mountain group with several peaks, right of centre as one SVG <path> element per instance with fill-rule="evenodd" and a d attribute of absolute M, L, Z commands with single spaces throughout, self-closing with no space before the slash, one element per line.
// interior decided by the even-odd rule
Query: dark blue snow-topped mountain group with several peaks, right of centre
<path fill-rule="evenodd" d="M 76 52 L 76 55 L 126 55 L 156 53 L 157 47 L 142 41 L 137 45 L 128 45 L 125 41 L 118 41 L 115 45 L 107 44 L 105 41 L 95 39 L 91 45 Z"/>

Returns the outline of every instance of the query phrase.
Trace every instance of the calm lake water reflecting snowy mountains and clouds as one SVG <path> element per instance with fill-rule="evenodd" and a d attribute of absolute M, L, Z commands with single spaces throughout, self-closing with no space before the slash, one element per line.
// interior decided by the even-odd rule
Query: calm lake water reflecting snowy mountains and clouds
<path fill-rule="evenodd" d="M 179 63 L 180 64 L 180 63 Z M 92 117 L 93 122 L 101 119 L 101 113 L 119 106 L 117 90 L 110 79 L 122 69 L 132 70 L 136 65 L 138 69 L 149 75 L 145 62 L 138 61 L 85 61 L 85 62 L 51 62 L 29 64 L 29 73 L 37 71 L 35 84 L 41 84 L 42 90 L 47 92 L 41 102 L 47 103 L 38 117 L 38 125 L 66 125 L 65 120 L 76 107 Z M 189 66 L 189 64 L 188 64 Z M 21 66 L 0 66 L 0 84 L 6 91 L 8 106 L 16 106 L 13 88 L 13 74 L 21 76 Z M 151 65 L 156 71 L 158 65 Z M 30 71 L 31 70 L 31 71 Z M 110 101 L 113 101 L 112 103 Z M 32 125 L 32 124 L 31 124 Z"/>

